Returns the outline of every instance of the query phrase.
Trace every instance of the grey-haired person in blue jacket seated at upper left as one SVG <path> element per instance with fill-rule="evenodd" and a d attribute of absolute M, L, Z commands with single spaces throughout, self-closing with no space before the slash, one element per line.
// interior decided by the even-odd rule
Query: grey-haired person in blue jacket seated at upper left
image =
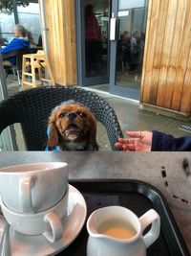
<path fill-rule="evenodd" d="M 33 44 L 31 32 L 27 31 L 25 27 L 20 24 L 15 25 L 14 35 L 15 37 L 11 40 L 11 42 L 6 47 L 0 49 L 0 53 L 6 54 L 17 49 L 29 48 L 30 44 Z M 6 66 L 15 65 L 16 57 L 11 57 L 4 60 L 3 64 Z"/>

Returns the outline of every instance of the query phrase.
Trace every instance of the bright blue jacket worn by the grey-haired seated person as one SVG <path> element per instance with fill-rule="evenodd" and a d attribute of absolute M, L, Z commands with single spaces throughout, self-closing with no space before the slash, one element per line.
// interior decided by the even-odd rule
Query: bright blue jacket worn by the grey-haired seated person
<path fill-rule="evenodd" d="M 30 41 L 27 38 L 15 37 L 11 40 L 11 42 L 5 48 L 0 49 L 0 53 L 6 54 L 17 49 L 29 48 L 29 47 L 30 47 Z M 12 65 L 16 64 L 16 57 L 8 58 L 8 60 L 12 63 Z"/>

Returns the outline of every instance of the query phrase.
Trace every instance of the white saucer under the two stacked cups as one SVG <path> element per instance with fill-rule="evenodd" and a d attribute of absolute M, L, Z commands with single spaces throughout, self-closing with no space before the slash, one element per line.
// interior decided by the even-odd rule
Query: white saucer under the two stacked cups
<path fill-rule="evenodd" d="M 67 215 L 63 218 L 63 235 L 55 243 L 50 243 L 43 235 L 27 236 L 10 230 L 11 256 L 55 255 L 74 242 L 86 220 L 87 206 L 81 193 L 69 185 L 69 203 Z M 0 228 L 0 239 L 3 235 Z"/>

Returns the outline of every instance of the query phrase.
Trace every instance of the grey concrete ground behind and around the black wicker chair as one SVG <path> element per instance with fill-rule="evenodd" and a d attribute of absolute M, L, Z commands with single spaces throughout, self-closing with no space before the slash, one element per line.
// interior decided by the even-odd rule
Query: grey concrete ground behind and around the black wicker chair
<path fill-rule="evenodd" d="M 17 82 L 13 81 L 11 76 L 7 79 L 7 87 L 9 95 L 18 91 Z M 105 87 L 105 85 L 103 85 Z M 98 86 L 101 89 L 101 86 Z M 138 101 L 120 98 L 111 95 L 105 91 L 96 90 L 94 87 L 86 87 L 86 89 L 96 91 L 96 93 L 103 97 L 116 111 L 119 125 L 124 133 L 126 130 L 153 130 L 170 133 L 176 137 L 183 135 L 191 135 L 191 125 L 189 120 L 182 121 L 173 117 L 164 116 L 158 113 L 153 113 L 141 109 Z M 189 131 L 180 130 L 181 126 L 190 127 Z M 19 151 L 25 151 L 22 132 L 19 125 L 15 125 L 16 140 Z M 98 124 L 97 127 L 97 143 L 100 151 L 110 151 L 110 143 L 107 138 L 105 128 Z"/>

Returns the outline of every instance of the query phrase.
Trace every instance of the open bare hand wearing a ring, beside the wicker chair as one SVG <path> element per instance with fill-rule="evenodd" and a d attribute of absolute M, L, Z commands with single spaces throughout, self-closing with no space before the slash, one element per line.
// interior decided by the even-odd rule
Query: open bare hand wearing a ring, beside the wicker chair
<path fill-rule="evenodd" d="M 119 138 L 115 147 L 123 151 L 151 151 L 153 132 L 126 131 L 129 138 Z"/>

